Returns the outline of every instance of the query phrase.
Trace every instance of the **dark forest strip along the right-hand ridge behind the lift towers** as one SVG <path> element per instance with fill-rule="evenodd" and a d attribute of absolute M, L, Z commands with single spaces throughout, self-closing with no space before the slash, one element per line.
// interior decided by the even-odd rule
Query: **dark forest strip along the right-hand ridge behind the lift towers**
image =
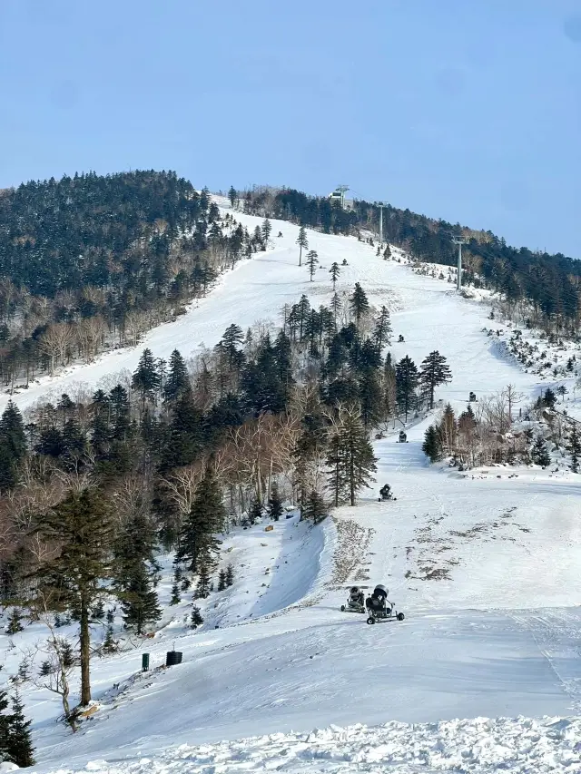
<path fill-rule="evenodd" d="M 352 211 L 327 198 L 307 196 L 292 189 L 257 188 L 238 193 L 231 189 L 231 201 L 244 211 L 263 217 L 301 223 L 325 233 L 357 234 L 359 230 L 379 233 L 379 207 L 355 201 Z M 234 200 L 234 197 L 236 199 Z M 463 250 L 465 285 L 497 291 L 509 305 L 524 303 L 525 324 L 535 322 L 557 335 L 574 335 L 581 324 L 581 261 L 561 253 L 509 247 L 491 231 L 472 230 L 446 220 L 434 220 L 409 210 L 383 207 L 384 239 L 417 259 L 455 266 L 454 236 L 468 240 Z"/>

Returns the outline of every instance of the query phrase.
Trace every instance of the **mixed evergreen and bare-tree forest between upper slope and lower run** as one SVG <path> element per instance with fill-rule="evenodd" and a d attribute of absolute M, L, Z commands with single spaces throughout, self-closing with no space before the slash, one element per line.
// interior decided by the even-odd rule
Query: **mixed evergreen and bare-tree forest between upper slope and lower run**
<path fill-rule="evenodd" d="M 85 705 L 92 655 L 114 651 L 122 632 L 154 630 L 160 552 L 173 552 L 172 603 L 191 600 L 196 628 L 196 601 L 237 572 L 216 576 L 232 524 L 276 521 L 285 504 L 316 524 L 331 507 L 354 505 L 374 481 L 372 435 L 434 406 L 451 377 L 438 351 L 421 364 L 393 362 L 389 310 L 373 309 L 359 285 L 319 309 L 302 296 L 281 317 L 280 328 L 232 322 L 191 367 L 177 350 L 166 363 L 144 349 L 133 374 L 92 394 L 79 389 L 25 416 L 12 402 L 5 408 L 5 632 L 46 623 L 41 668 L 73 726 L 60 681 L 80 665 Z M 63 622 L 78 623 L 78 641 L 59 633 Z M 38 679 L 31 670 L 17 680 Z"/>

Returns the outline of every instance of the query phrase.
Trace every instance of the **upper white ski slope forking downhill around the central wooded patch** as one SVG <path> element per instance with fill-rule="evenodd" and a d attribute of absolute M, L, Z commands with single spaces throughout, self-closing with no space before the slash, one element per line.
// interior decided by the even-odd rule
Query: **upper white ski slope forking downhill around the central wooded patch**
<path fill-rule="evenodd" d="M 222 212 L 226 201 L 218 200 Z M 249 231 L 262 220 L 235 211 L 236 220 Z M 103 378 L 137 366 L 143 348 L 150 348 L 157 358 L 169 358 L 173 349 L 179 349 L 184 358 L 200 347 L 213 347 L 231 323 L 246 329 L 258 320 L 280 324 L 281 309 L 296 303 L 304 293 L 311 305 L 329 303 L 331 283 L 330 265 L 345 259 L 340 266 L 337 290 L 350 294 L 356 282 L 367 292 L 372 304 L 385 304 L 391 311 L 394 359 L 404 355 L 421 362 L 434 348 L 445 354 L 452 364 L 454 381 L 443 388 L 440 397 L 464 406 L 470 389 L 482 393 L 493 392 L 509 381 L 528 393 L 538 390 L 532 375 L 519 374 L 515 367 L 491 348 L 490 341 L 481 333 L 487 324 L 487 309 L 476 303 L 458 299 L 451 286 L 438 279 L 420 277 L 405 263 L 382 260 L 369 245 L 355 237 L 337 237 L 308 230 L 309 249 L 317 250 L 320 265 L 314 281 L 309 272 L 299 267 L 299 248 L 296 245 L 299 229 L 283 220 L 272 220 L 271 248 L 256 253 L 251 259 L 241 260 L 227 271 L 217 287 L 204 299 L 196 300 L 186 314 L 171 323 L 153 328 L 136 348 L 123 348 L 103 354 L 94 363 L 64 369 L 54 377 L 41 377 L 38 384 L 21 390 L 12 399 L 25 408 L 40 397 L 60 396 L 74 392 L 75 387 L 95 387 Z M 282 237 L 277 238 L 279 231 Z M 393 249 L 394 256 L 401 253 Z M 405 338 L 397 343 L 399 334 Z M 529 378 L 530 377 L 530 378 Z M 0 410 L 9 395 L 0 396 Z"/>

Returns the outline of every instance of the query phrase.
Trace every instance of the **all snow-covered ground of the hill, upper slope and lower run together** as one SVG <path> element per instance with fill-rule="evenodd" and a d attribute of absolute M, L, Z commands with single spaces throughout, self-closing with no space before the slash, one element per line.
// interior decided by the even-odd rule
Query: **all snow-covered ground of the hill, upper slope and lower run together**
<path fill-rule="evenodd" d="M 252 230 L 261 222 L 235 217 Z M 157 357 L 173 348 L 187 357 L 231 322 L 278 320 L 302 293 L 328 302 L 330 264 L 343 259 L 340 292 L 359 281 L 372 303 L 391 310 L 395 341 L 405 338 L 391 347 L 395 359 L 419 363 L 435 348 L 448 358 L 453 380 L 438 397 L 460 410 L 470 390 L 485 396 L 512 384 L 537 397 L 539 377 L 483 333 L 485 305 L 356 239 L 309 231 L 320 259 L 311 283 L 297 265 L 297 234 L 274 221 L 273 249 L 224 275 L 187 315 L 139 348 L 46 379 L 16 402 L 133 370 L 145 346 Z M 36 770 L 581 771 L 578 476 L 429 466 L 421 452 L 429 421 L 409 428 L 408 444 L 396 443 L 399 427 L 376 443 L 378 482 L 358 507 L 310 530 L 290 519 L 273 533 L 262 524 L 232 534 L 225 547 L 244 577 L 211 597 L 217 607 L 204 611 L 204 629 L 170 623 L 144 641 L 154 667 L 144 675 L 141 650 L 95 661 L 101 706 L 74 737 L 57 729 L 54 698 L 26 689 Z M 380 504 L 386 481 L 398 499 Z M 353 583 L 388 585 L 405 621 L 368 626 L 341 613 Z M 30 636 L 16 635 L 15 648 Z M 157 669 L 173 641 L 182 664 Z M 330 724 L 342 730 L 305 736 Z M 272 736 L 240 741 L 259 734 Z"/>

